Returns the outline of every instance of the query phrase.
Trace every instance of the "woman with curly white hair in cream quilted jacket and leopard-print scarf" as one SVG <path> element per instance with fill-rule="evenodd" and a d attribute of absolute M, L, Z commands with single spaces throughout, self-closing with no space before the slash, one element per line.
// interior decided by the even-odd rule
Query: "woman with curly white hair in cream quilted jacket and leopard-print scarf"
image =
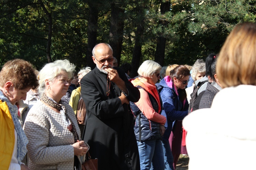
<path fill-rule="evenodd" d="M 24 124 L 30 169 L 82 169 L 79 158 L 89 148 L 80 141 L 73 109 L 61 101 L 74 69 L 68 60 L 57 60 L 39 72 L 41 99 L 30 109 Z"/>

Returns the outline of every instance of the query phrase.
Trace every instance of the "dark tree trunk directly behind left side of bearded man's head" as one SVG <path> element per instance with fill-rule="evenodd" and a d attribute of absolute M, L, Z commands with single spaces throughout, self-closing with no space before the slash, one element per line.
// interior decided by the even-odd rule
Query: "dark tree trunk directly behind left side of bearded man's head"
<path fill-rule="evenodd" d="M 90 8 L 89 19 L 88 19 L 88 45 L 87 45 L 87 66 L 92 69 L 95 68 L 95 63 L 92 59 L 93 48 L 97 43 L 97 29 L 98 29 L 98 16 L 99 11 L 93 3 L 88 3 Z"/>

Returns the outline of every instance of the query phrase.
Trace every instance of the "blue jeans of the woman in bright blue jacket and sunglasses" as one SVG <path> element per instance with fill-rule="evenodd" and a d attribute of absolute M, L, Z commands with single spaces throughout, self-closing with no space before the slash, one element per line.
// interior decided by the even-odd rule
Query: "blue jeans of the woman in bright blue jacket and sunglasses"
<path fill-rule="evenodd" d="M 163 148 L 163 157 L 165 159 L 165 169 L 166 170 L 174 170 L 173 168 L 173 156 L 170 147 L 169 140 L 162 140 L 162 148 Z"/>

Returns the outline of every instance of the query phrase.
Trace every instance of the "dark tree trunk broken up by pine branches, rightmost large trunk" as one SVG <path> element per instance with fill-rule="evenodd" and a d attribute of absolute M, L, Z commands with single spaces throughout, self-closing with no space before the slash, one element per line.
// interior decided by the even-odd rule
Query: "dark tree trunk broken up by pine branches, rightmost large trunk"
<path fill-rule="evenodd" d="M 161 14 L 164 14 L 166 12 L 170 11 L 170 1 L 162 2 L 160 5 L 160 12 Z M 159 21 L 159 25 L 161 27 L 167 26 L 166 21 Z M 161 35 L 157 38 L 157 44 L 156 44 L 156 53 L 155 53 L 155 61 L 158 62 L 161 66 L 163 66 L 163 61 L 165 60 L 165 45 L 166 45 L 166 38 L 162 37 Z"/>

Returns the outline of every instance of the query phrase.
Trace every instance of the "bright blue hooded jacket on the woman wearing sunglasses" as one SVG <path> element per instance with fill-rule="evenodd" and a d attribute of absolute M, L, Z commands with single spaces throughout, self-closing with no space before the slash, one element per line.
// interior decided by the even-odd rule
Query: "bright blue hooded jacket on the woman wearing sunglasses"
<path fill-rule="evenodd" d="M 169 87 L 167 83 L 171 87 Z M 169 76 L 166 76 L 160 81 L 158 90 L 161 90 L 160 96 L 163 103 L 162 115 L 167 118 L 163 140 L 169 140 L 174 121 L 183 120 L 183 118 L 188 114 L 188 101 L 186 99 L 183 108 L 183 101 L 180 101 L 179 96 L 176 94 L 176 89 L 174 89 L 174 84 Z"/>

